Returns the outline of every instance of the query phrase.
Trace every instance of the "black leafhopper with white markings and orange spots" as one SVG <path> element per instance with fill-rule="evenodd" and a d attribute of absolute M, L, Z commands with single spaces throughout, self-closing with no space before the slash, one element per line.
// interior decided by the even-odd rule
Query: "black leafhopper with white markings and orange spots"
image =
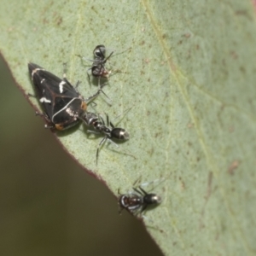
<path fill-rule="evenodd" d="M 61 131 L 77 125 L 87 109 L 87 104 L 102 91 L 100 88 L 95 95 L 84 100 L 79 91 L 68 82 L 65 74 L 63 79 L 60 79 L 34 63 L 28 63 L 28 70 L 32 76 L 38 101 L 44 108 L 44 113 L 38 114 L 43 115 L 47 121 L 46 128 Z"/>

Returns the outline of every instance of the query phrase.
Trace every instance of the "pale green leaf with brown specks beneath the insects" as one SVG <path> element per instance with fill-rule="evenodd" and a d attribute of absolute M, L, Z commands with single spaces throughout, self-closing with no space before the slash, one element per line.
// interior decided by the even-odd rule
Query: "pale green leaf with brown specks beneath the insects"
<path fill-rule="evenodd" d="M 144 219 L 166 255 L 254 255 L 256 28 L 253 1 L 2 1 L 0 48 L 23 92 L 32 61 L 86 98 L 97 44 L 115 49 L 96 111 L 130 133 L 119 148 L 83 125 L 57 132 L 69 154 L 118 195 L 164 178 Z M 87 66 L 88 64 L 88 66 Z M 113 69 L 114 69 L 113 68 Z M 36 108 L 38 102 L 29 98 Z M 92 108 L 89 108 L 92 110 Z M 116 120 L 114 120 L 114 123 Z M 42 129 L 43 122 L 42 122 Z M 103 211 L 103 209 L 102 209 Z"/>

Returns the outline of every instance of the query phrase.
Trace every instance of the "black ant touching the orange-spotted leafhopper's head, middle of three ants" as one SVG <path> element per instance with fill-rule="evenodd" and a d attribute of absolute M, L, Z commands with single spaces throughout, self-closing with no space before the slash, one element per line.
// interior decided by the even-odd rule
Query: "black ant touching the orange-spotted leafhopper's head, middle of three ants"
<path fill-rule="evenodd" d="M 102 141 L 98 144 L 98 148 L 96 151 L 96 163 L 99 156 L 99 150 L 103 143 L 105 143 L 107 140 L 113 143 L 116 147 L 118 145 L 113 142 L 113 139 L 117 140 L 128 140 L 129 139 L 129 133 L 125 131 L 123 128 L 114 127 L 114 125 L 109 121 L 108 114 L 107 116 L 107 125 L 105 124 L 104 119 L 102 119 L 101 115 L 97 115 L 96 113 L 91 112 L 85 112 L 83 115 L 83 120 L 85 125 L 92 126 L 94 128 L 94 131 L 88 130 L 88 132 L 96 133 L 96 134 L 104 134 L 105 137 L 102 138 Z"/>

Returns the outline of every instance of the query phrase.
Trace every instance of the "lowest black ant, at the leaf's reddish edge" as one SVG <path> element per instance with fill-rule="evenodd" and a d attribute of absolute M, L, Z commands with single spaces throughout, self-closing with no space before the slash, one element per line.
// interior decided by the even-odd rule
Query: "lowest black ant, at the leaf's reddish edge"
<path fill-rule="evenodd" d="M 141 186 L 133 190 L 124 195 L 119 193 L 119 213 L 126 209 L 135 216 L 141 216 L 147 207 L 157 207 L 161 202 L 159 195 L 148 193 Z"/>

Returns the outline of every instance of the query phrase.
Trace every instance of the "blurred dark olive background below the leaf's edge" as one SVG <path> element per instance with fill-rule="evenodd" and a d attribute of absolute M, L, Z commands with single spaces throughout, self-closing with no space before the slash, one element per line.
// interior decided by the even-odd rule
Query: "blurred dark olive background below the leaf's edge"
<path fill-rule="evenodd" d="M 2 57 L 0 77 L 1 255 L 162 255 L 44 129 Z"/>

